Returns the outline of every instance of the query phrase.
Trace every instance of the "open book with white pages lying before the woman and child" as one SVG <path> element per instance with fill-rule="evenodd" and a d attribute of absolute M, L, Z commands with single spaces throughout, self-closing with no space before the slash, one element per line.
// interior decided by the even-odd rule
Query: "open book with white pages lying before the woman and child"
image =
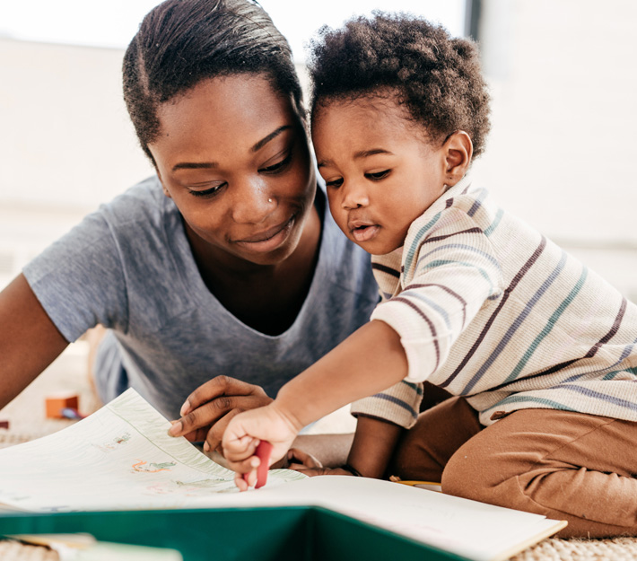
<path fill-rule="evenodd" d="M 476 561 L 515 555 L 566 522 L 370 478 L 270 471 L 239 493 L 234 474 L 127 390 L 56 434 L 0 450 L 0 503 L 39 513 L 316 505 Z"/>

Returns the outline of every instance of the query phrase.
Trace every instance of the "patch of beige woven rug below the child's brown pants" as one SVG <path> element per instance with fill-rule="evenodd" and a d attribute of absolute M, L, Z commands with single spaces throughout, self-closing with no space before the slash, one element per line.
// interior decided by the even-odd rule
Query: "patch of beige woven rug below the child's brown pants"
<path fill-rule="evenodd" d="M 511 561 L 634 561 L 637 539 L 545 539 Z"/>

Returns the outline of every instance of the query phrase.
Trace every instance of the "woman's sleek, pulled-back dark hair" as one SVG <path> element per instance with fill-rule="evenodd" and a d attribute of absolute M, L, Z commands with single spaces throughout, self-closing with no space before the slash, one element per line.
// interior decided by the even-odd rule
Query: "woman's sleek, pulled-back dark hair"
<path fill-rule="evenodd" d="M 161 103 L 215 76 L 262 74 L 291 98 L 302 91 L 287 40 L 250 0 L 166 0 L 146 14 L 124 56 L 124 100 L 144 152 L 160 134 Z"/>

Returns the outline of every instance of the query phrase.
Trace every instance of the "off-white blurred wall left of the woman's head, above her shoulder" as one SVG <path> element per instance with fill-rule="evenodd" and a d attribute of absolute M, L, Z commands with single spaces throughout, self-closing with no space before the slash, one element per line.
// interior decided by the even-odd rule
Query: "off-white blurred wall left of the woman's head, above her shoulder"
<path fill-rule="evenodd" d="M 121 95 L 123 51 L 0 39 L 0 287 L 152 173 Z"/>

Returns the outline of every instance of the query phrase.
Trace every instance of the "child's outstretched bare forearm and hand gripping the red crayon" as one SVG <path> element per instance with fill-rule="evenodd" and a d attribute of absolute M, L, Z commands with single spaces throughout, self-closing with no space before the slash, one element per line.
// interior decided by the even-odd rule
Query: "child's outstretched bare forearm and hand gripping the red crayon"
<path fill-rule="evenodd" d="M 223 434 L 223 451 L 231 469 L 242 474 L 257 468 L 253 454 L 259 440 L 274 445 L 270 459 L 274 463 L 303 426 L 355 399 L 386 390 L 404 379 L 407 370 L 397 332 L 383 321 L 372 320 L 286 383 L 274 402 L 231 419 Z M 256 473 L 251 473 L 250 483 L 254 478 Z M 240 488 L 247 487 L 240 476 L 236 480 Z"/>

